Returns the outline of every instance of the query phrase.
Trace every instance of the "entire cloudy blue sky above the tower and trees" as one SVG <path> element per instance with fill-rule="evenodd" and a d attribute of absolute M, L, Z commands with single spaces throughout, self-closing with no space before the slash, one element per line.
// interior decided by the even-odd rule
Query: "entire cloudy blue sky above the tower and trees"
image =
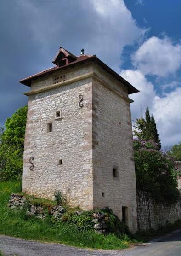
<path fill-rule="evenodd" d="M 132 122 L 148 106 L 163 147 L 181 141 L 180 0 L 1 0 L 0 35 L 0 126 L 28 102 L 18 81 L 52 67 L 62 46 L 139 89 Z"/>

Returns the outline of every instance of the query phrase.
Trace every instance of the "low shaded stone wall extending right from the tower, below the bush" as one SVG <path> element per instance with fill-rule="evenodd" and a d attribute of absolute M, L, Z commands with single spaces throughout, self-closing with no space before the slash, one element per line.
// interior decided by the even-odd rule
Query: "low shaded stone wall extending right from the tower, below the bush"
<path fill-rule="evenodd" d="M 158 204 L 147 192 L 137 191 L 138 231 L 146 231 L 181 220 L 181 200 L 176 204 Z"/>

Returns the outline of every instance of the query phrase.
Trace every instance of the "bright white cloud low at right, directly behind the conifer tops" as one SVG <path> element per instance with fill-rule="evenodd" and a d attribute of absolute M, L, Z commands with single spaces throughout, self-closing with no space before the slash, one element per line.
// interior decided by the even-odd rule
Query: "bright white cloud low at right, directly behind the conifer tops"
<path fill-rule="evenodd" d="M 131 103 L 132 120 L 141 117 L 141 106 L 143 112 L 148 106 L 155 117 L 162 146 L 178 143 L 181 140 L 181 88 L 158 97 L 153 84 L 140 70 L 122 70 L 120 75 L 140 90 L 131 95 L 135 101 Z"/>

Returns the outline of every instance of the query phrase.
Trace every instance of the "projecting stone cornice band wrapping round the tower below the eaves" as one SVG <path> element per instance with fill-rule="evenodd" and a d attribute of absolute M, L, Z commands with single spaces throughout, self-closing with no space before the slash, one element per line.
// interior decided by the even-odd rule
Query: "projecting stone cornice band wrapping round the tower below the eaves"
<path fill-rule="evenodd" d="M 43 93 L 43 92 L 49 91 L 51 89 L 55 89 L 55 88 L 58 88 L 58 87 L 61 87 L 61 86 L 64 86 L 64 85 L 67 85 L 67 84 L 70 84 L 70 83 L 73 83 L 73 82 L 77 82 L 77 81 L 80 81 L 80 80 L 83 80 L 83 79 L 86 79 L 86 78 L 90 78 L 90 77 L 92 77 L 95 80 L 97 80 L 98 82 L 102 83 L 102 85 L 107 87 L 107 89 L 109 89 L 113 93 L 116 93 L 119 97 L 125 99 L 129 103 L 133 102 L 132 99 L 130 99 L 128 97 L 125 97 L 124 95 L 122 95 L 121 93 L 119 93 L 118 91 L 116 91 L 115 89 L 110 87 L 110 85 L 106 81 L 104 81 L 103 79 L 99 78 L 95 72 L 89 72 L 89 73 L 86 73 L 86 74 L 81 75 L 81 76 L 75 76 L 75 77 L 70 78 L 68 80 L 58 82 L 56 84 L 51 84 L 49 86 L 45 86 L 45 87 L 42 87 L 42 88 L 32 90 L 30 92 L 24 93 L 24 95 L 31 96 L 31 95 L 34 95 L 34 94 L 37 94 L 37 93 Z"/>

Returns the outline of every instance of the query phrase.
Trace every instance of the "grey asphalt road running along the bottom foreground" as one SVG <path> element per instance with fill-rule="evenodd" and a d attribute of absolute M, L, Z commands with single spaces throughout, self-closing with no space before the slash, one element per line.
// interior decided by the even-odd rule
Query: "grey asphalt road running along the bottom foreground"
<path fill-rule="evenodd" d="M 5 256 L 181 256 L 181 231 L 160 241 L 128 250 L 84 250 L 61 244 L 46 244 L 0 235 Z"/>

